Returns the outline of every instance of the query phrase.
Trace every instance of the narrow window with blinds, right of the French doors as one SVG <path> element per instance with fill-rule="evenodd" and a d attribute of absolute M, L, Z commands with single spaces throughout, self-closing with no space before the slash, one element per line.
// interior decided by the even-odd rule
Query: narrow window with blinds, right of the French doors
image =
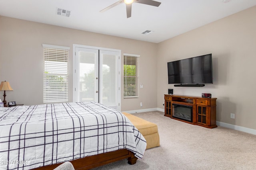
<path fill-rule="evenodd" d="M 124 54 L 124 98 L 138 98 L 140 55 Z"/>

